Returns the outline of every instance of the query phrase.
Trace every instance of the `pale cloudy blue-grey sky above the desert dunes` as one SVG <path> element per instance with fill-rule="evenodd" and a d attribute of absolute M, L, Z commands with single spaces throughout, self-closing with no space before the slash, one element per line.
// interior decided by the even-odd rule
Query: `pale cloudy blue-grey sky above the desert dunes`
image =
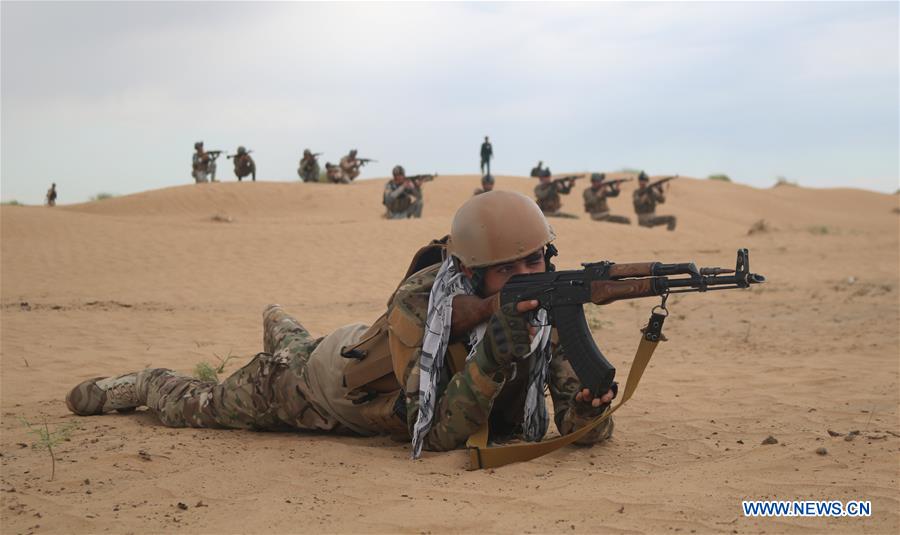
<path fill-rule="evenodd" d="M 193 143 L 297 180 L 646 169 L 893 193 L 900 3 L 0 3 L 0 198 L 193 183 Z M 230 161 L 218 178 L 234 180 Z"/>

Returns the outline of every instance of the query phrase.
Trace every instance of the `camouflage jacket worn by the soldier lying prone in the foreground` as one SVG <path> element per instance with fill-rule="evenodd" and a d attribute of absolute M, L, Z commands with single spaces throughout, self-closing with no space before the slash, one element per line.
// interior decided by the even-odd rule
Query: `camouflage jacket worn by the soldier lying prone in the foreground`
<path fill-rule="evenodd" d="M 439 266 L 435 265 L 406 279 L 391 299 L 388 314 L 396 309 L 424 331 L 428 299 Z M 555 338 L 555 337 L 554 337 Z M 410 435 L 419 415 L 419 357 L 421 338 L 400 382 L 404 388 L 406 421 Z M 521 364 L 520 364 L 521 365 Z M 491 438 L 516 437 L 521 433 L 524 417 L 527 373 L 520 371 L 514 377 L 503 374 L 488 376 L 471 360 L 465 369 L 452 374 L 450 359 L 445 359 L 441 383 L 437 388 L 434 420 L 425 438 L 425 449 L 444 451 L 458 448 L 477 431 L 485 421 L 490 422 Z M 554 344 L 548 378 L 556 427 L 560 433 L 570 433 L 596 417 L 598 409 L 578 403 L 575 394 L 580 382 L 571 364 Z M 591 431 L 578 441 L 589 445 L 599 442 L 608 433 L 604 426 Z"/>

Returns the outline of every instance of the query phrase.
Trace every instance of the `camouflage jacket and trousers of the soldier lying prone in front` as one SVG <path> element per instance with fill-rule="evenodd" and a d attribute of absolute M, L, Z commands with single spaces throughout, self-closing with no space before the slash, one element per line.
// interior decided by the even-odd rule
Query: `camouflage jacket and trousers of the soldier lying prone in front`
<path fill-rule="evenodd" d="M 389 314 L 396 310 L 424 329 L 437 269 L 427 268 L 405 280 L 391 299 Z M 378 420 L 367 414 L 369 405 L 377 401 L 360 398 L 360 392 L 343 386 L 344 368 L 351 359 L 341 356 L 341 348 L 358 342 L 365 330 L 364 325 L 349 325 L 314 339 L 281 307 L 270 305 L 263 313 L 264 353 L 219 384 L 166 369 L 142 370 L 136 374 L 134 405 L 146 405 L 170 427 L 304 429 L 359 435 L 387 434 L 405 427 L 411 434 L 418 417 L 422 336 L 417 342 L 409 341 L 415 356 L 401 381 L 406 386 L 392 398 L 396 402 L 387 420 Z M 561 349 L 554 349 L 550 395 L 557 428 L 568 433 L 595 417 L 600 409 L 582 403 L 575 407 L 578 379 Z M 519 364 L 525 365 L 527 362 Z M 488 374 L 482 371 L 483 366 L 473 359 L 463 371 L 451 375 L 448 369 L 444 374 L 426 438 L 427 449 L 459 447 L 488 419 L 492 437 L 511 437 L 520 432 L 526 386 L 523 378 L 527 373 Z M 96 382 L 81 383 L 69 393 L 66 402 L 70 410 L 81 415 L 104 411 L 106 390 L 98 388 Z M 608 438 L 612 428 L 609 420 L 579 443 L 593 444 Z"/>

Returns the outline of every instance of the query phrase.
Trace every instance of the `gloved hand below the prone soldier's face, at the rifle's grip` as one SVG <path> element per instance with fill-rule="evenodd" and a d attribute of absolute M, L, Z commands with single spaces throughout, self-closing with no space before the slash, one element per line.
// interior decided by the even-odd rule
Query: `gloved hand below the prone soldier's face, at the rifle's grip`
<path fill-rule="evenodd" d="M 475 350 L 475 362 L 483 372 L 506 369 L 531 353 L 530 325 L 523 314 L 535 308 L 537 301 L 508 303 L 491 316 Z"/>

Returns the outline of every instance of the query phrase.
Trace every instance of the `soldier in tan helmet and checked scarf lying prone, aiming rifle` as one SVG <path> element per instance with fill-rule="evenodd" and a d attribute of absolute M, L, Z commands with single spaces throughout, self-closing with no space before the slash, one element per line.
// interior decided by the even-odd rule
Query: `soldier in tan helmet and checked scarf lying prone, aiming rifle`
<path fill-rule="evenodd" d="M 550 267 L 554 238 L 524 195 L 472 197 L 453 219 L 445 258 L 438 252 L 408 274 L 368 333 L 356 324 L 315 338 L 270 305 L 264 352 L 219 384 L 149 368 L 89 379 L 66 404 L 79 415 L 146 405 L 170 427 L 406 435 L 418 457 L 423 449 L 458 448 L 486 424 L 493 439 L 540 440 L 549 427 L 549 387 L 557 429 L 569 433 L 607 410 L 613 391 L 593 397 L 580 388 L 545 311 L 535 311 L 534 320 L 524 316 L 537 301 L 498 308 L 496 298 L 512 275 Z M 378 342 L 367 347 L 388 348 L 364 358 L 388 359 L 390 387 L 355 388 L 345 380 L 357 361 L 342 354 L 356 356 L 365 335 Z M 579 443 L 611 433 L 607 420 Z"/>

